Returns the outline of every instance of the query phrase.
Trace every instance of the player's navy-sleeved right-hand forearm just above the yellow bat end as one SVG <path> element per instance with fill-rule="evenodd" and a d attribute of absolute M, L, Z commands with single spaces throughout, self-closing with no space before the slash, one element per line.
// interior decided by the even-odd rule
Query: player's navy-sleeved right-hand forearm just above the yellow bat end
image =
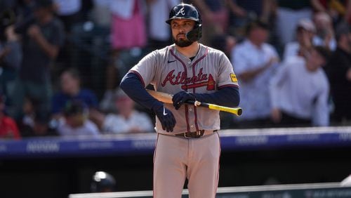
<path fill-rule="evenodd" d="M 211 103 L 226 107 L 237 107 L 240 103 L 239 88 L 227 86 L 215 93 L 195 93 L 195 98 L 203 103 Z"/>

